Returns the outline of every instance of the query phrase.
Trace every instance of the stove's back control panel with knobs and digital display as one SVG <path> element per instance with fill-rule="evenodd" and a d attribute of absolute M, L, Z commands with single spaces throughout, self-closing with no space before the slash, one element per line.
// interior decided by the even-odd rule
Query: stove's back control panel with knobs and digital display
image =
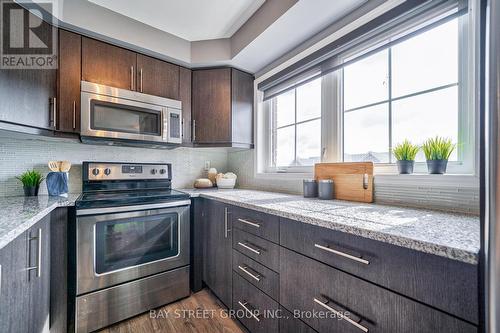
<path fill-rule="evenodd" d="M 87 180 L 172 179 L 170 164 L 84 163 Z"/>

